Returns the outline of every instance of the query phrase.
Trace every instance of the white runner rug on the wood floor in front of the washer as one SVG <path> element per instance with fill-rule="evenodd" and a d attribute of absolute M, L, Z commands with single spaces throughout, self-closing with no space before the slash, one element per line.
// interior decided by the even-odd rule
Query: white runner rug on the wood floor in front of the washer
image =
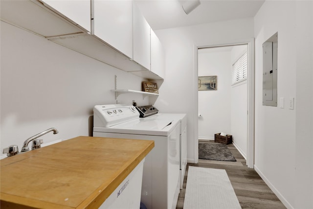
<path fill-rule="evenodd" d="M 188 167 L 184 209 L 241 209 L 223 169 Z"/>

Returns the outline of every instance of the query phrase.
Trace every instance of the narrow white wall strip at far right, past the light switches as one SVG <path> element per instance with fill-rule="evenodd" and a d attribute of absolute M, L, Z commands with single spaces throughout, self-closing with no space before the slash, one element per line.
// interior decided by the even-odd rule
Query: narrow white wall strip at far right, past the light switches
<path fill-rule="evenodd" d="M 296 1 L 295 6 L 295 208 L 313 208 L 313 1 Z"/>

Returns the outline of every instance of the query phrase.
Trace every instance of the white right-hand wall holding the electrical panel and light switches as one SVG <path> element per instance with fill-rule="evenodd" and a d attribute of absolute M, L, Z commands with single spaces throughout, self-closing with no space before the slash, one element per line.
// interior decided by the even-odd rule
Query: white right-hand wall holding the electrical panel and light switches
<path fill-rule="evenodd" d="M 313 208 L 312 1 L 266 1 L 255 16 L 255 169 L 288 208 Z M 277 97 L 262 105 L 262 44 L 278 32 Z M 288 107 L 295 98 L 295 109 Z"/>

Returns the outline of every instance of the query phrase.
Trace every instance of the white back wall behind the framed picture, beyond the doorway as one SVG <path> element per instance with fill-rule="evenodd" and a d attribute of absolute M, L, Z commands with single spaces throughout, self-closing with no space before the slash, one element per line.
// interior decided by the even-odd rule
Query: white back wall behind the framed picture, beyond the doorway
<path fill-rule="evenodd" d="M 224 48 L 224 47 L 222 47 Z M 218 51 L 217 51 L 218 50 Z M 230 50 L 198 50 L 198 75 L 217 76 L 216 91 L 198 91 L 199 139 L 214 139 L 214 134 L 231 134 L 230 128 Z"/>

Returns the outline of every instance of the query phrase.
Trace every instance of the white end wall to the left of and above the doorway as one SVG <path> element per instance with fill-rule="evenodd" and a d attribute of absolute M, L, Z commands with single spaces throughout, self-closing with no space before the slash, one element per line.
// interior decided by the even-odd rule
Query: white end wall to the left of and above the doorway
<path fill-rule="evenodd" d="M 165 49 L 165 80 L 156 107 L 167 113 L 187 114 L 188 162 L 198 160 L 198 73 L 196 46 L 228 44 L 253 37 L 253 19 L 157 30 Z"/>

